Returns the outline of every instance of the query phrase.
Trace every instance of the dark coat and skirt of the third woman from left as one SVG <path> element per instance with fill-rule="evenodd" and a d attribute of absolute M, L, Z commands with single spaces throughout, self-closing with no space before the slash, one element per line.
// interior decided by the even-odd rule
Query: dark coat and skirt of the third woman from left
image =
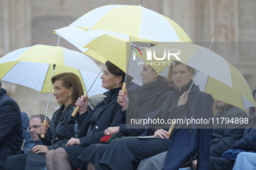
<path fill-rule="evenodd" d="M 121 111 L 124 112 L 123 119 L 130 120 L 132 118 L 145 118 L 149 112 L 160 108 L 167 96 L 174 90 L 175 88 L 168 87 L 159 80 L 143 85 L 140 87 L 132 107 L 129 106 L 129 108 L 126 109 L 127 111 Z M 128 98 L 130 103 L 129 94 Z M 125 136 L 139 136 L 145 132 L 145 128 L 143 128 L 143 126 L 137 125 L 138 128 L 133 128 L 135 125 L 128 124 L 128 122 L 129 121 L 127 121 L 126 124 L 124 121 L 124 123 L 120 124 L 120 132 L 122 132 Z M 84 152 L 78 157 L 78 161 L 82 164 L 80 169 L 86 170 L 87 164 L 91 162 L 94 164 L 96 170 L 100 170 L 101 167 L 99 166 L 99 162 L 108 145 L 109 144 L 92 144 L 86 150 L 84 150 Z"/>

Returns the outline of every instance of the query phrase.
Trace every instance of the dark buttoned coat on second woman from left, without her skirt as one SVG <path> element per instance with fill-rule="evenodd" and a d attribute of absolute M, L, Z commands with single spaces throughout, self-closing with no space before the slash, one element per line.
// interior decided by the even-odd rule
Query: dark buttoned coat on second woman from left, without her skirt
<path fill-rule="evenodd" d="M 120 124 L 122 115 L 118 111 L 121 110 L 121 106 L 117 103 L 119 90 L 121 90 L 121 87 L 104 93 L 107 97 L 104 97 L 104 101 L 97 104 L 91 113 L 85 112 L 82 115 L 77 114 L 75 116 L 80 127 L 78 138 L 81 146 L 100 143 L 100 138 L 104 136 L 104 131 L 108 127 L 115 127 Z M 91 118 L 94 116 L 97 116 L 96 122 L 91 124 Z M 91 130 L 88 132 L 90 124 Z"/>

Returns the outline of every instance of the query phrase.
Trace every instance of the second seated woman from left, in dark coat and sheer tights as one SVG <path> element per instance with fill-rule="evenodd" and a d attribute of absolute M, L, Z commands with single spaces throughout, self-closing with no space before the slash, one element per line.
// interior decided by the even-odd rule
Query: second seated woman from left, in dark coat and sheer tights
<path fill-rule="evenodd" d="M 91 144 L 100 143 L 104 131 L 110 126 L 117 126 L 120 123 L 122 114 L 119 112 L 121 106 L 117 103 L 119 90 L 125 79 L 125 73 L 110 63 L 106 62 L 103 68 L 102 87 L 109 90 L 104 93 L 107 97 L 97 104 L 94 110 L 87 111 L 87 98 L 81 96 L 76 105 L 81 106 L 79 114 L 75 116 L 80 127 L 78 138 L 71 138 L 66 146 L 51 150 L 46 154 L 47 170 L 71 170 L 78 169 L 81 164 L 77 157 Z"/>

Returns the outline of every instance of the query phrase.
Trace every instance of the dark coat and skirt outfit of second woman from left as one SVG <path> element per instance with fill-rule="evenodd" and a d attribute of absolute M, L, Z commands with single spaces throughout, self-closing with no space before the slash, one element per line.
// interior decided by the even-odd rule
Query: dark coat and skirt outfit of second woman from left
<path fill-rule="evenodd" d="M 78 138 L 81 145 L 64 146 L 67 152 L 72 169 L 81 167 L 78 162 L 78 156 L 91 144 L 100 143 L 100 138 L 104 136 L 104 131 L 108 127 L 115 127 L 120 124 L 122 113 L 121 106 L 117 103 L 117 96 L 121 87 L 111 89 L 104 93 L 104 101 L 97 104 L 91 113 L 85 112 L 82 115 L 76 115 L 76 120 L 80 127 Z"/>

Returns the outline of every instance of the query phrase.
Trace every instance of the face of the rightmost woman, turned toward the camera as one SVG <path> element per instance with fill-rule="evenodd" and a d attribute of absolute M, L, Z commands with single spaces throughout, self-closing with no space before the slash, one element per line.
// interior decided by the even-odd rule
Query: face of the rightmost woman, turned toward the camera
<path fill-rule="evenodd" d="M 172 67 L 172 79 L 179 90 L 185 87 L 193 76 L 194 74 L 190 74 L 188 67 L 184 64 L 175 64 Z"/>

